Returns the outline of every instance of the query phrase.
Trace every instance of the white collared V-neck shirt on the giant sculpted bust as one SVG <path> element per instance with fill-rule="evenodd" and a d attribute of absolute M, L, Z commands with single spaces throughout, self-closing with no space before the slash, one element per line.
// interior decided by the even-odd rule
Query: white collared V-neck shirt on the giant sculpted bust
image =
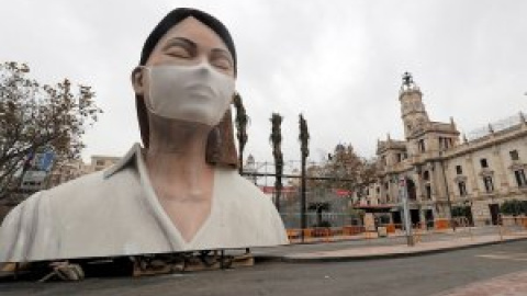
<path fill-rule="evenodd" d="M 152 187 L 141 146 L 114 167 L 30 196 L 0 229 L 0 262 L 117 257 L 288 243 L 270 198 L 214 168 L 211 213 L 186 241 Z"/>

